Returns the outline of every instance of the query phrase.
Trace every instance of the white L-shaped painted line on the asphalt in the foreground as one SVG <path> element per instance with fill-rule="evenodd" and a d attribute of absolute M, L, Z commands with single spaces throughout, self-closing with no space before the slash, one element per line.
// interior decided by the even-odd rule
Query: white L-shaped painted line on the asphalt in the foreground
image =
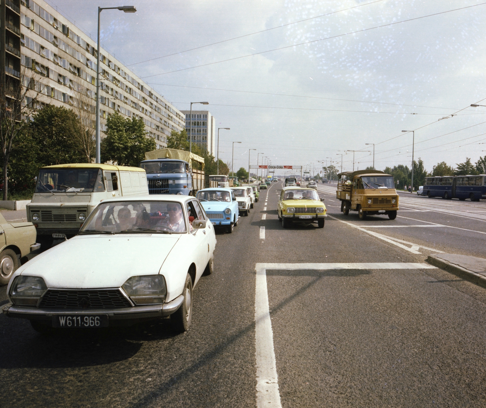
<path fill-rule="evenodd" d="M 281 408 L 272 320 L 268 302 L 267 269 L 436 269 L 427 263 L 257 263 L 255 265 L 255 359 L 257 408 Z"/>

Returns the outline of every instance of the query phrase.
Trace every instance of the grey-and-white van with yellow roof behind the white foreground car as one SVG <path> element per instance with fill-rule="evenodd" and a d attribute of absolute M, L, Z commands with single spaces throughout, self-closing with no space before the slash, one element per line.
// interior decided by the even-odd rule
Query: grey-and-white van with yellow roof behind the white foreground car
<path fill-rule="evenodd" d="M 78 233 L 101 201 L 148 195 L 143 168 L 79 163 L 41 167 L 27 221 L 34 223 L 37 241 L 47 249 L 54 239 Z"/>

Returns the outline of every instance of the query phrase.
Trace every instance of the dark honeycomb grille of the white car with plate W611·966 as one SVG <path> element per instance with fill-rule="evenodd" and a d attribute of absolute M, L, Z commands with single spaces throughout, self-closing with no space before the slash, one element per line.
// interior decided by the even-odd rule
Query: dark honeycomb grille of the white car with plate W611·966
<path fill-rule="evenodd" d="M 40 307 L 90 309 L 132 307 L 132 305 L 118 289 L 49 289 L 42 297 Z"/>

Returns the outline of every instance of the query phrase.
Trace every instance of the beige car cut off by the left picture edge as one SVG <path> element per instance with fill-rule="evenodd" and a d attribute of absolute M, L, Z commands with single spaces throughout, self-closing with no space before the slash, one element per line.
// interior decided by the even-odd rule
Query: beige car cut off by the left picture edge
<path fill-rule="evenodd" d="M 8 222 L 0 214 L 0 285 L 6 285 L 27 255 L 40 248 L 36 236 L 33 223 Z"/>

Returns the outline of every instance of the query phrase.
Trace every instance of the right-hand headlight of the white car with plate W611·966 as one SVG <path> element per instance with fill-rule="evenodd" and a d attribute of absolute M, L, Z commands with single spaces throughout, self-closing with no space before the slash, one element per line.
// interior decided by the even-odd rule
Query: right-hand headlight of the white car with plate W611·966
<path fill-rule="evenodd" d="M 121 287 L 137 305 L 164 303 L 167 296 L 162 275 L 132 276 Z"/>

